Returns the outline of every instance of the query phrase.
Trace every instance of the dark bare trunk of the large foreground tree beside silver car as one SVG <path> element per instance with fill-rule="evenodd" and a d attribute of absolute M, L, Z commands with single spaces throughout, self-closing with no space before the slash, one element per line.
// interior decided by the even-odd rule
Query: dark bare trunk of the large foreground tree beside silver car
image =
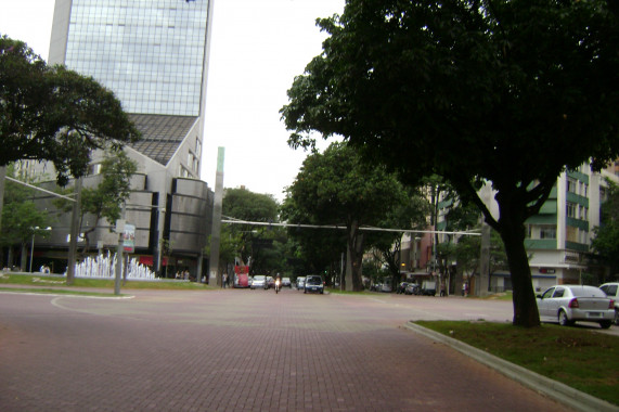
<path fill-rule="evenodd" d="M 534 327 L 540 325 L 540 314 L 531 282 L 531 268 L 525 248 L 525 231 L 521 224 L 502 227 L 501 237 L 505 244 L 512 286 L 514 287 L 514 320 L 516 326 Z"/>

